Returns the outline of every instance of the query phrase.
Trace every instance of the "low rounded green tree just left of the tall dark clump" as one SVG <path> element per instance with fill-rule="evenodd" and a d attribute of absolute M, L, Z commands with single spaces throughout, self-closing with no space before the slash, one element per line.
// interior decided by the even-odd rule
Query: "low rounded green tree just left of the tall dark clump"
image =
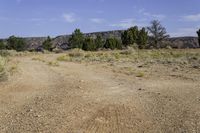
<path fill-rule="evenodd" d="M 122 43 L 116 38 L 108 38 L 106 39 L 104 47 L 106 49 L 122 49 Z"/>

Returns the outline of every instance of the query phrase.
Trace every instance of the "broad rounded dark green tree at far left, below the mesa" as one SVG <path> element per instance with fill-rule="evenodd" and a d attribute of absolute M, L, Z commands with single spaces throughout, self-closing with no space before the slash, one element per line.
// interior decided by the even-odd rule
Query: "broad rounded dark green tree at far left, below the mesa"
<path fill-rule="evenodd" d="M 27 49 L 27 44 L 23 38 L 11 36 L 7 42 L 8 49 L 14 49 L 16 51 L 25 51 Z"/>

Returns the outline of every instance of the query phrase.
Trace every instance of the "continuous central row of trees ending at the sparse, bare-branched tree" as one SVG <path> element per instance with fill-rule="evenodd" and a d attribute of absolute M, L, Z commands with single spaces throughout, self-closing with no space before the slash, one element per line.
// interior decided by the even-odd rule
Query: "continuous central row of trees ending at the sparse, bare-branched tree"
<path fill-rule="evenodd" d="M 169 37 L 166 29 L 157 20 L 151 22 L 151 26 L 147 28 L 139 29 L 137 26 L 131 27 L 125 30 L 121 34 L 121 39 L 115 37 L 108 37 L 102 39 L 100 35 L 96 38 L 84 37 L 84 34 L 80 29 L 76 29 L 69 39 L 69 45 L 71 48 L 80 48 L 86 51 L 96 51 L 98 49 L 122 49 L 128 46 L 134 46 L 139 49 L 147 48 L 149 36 L 151 36 L 151 45 L 155 48 L 158 47 L 163 39 Z"/>

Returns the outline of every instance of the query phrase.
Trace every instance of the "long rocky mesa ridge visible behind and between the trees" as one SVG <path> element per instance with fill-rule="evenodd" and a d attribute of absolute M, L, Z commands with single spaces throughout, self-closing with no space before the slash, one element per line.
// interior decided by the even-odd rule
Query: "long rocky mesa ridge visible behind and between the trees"
<path fill-rule="evenodd" d="M 94 32 L 94 33 L 85 33 L 84 35 L 87 37 L 96 37 L 97 35 L 101 35 L 103 39 L 109 37 L 116 37 L 121 39 L 121 34 L 123 30 L 115 30 L 115 31 L 104 31 L 104 32 Z M 53 39 L 53 45 L 58 48 L 67 49 L 69 47 L 68 40 L 71 35 L 60 35 Z M 42 42 L 46 40 L 47 37 L 27 37 L 24 38 L 26 42 L 29 44 L 29 50 L 37 49 L 42 45 Z M 197 37 L 173 37 L 166 39 L 161 47 L 171 46 L 172 48 L 199 48 L 198 38 Z"/>

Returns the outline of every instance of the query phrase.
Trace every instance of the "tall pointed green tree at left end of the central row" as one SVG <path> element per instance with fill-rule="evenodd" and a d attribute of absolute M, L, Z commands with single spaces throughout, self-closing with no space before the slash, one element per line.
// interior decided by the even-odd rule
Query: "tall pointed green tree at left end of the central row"
<path fill-rule="evenodd" d="M 84 42 L 83 33 L 80 31 L 80 29 L 76 29 L 72 33 L 72 36 L 69 38 L 69 43 L 70 43 L 71 48 L 80 48 L 80 49 L 82 49 L 83 42 Z"/>

